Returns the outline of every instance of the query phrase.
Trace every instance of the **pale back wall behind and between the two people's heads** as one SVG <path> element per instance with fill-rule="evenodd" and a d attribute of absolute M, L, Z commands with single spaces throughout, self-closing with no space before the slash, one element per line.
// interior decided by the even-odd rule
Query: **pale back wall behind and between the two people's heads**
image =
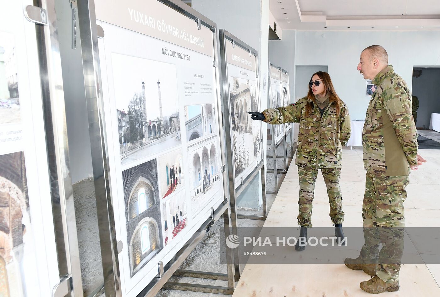
<path fill-rule="evenodd" d="M 289 34 L 283 32 L 283 42 Z M 293 39 L 293 34 L 291 34 Z M 293 41 L 291 40 L 290 43 Z M 380 44 L 389 63 L 412 87 L 413 66 L 440 65 L 440 31 L 297 31 L 296 65 L 327 65 L 336 92 L 347 103 L 353 120 L 365 119 L 370 97 L 365 80 L 356 70 L 360 52 Z M 284 54 L 286 65 L 290 54 Z M 286 68 L 287 69 L 287 68 Z"/>

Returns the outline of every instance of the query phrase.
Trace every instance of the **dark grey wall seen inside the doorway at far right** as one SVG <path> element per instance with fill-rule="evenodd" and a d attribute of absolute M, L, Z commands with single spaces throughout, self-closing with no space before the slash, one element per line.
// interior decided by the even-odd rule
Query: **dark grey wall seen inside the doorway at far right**
<path fill-rule="evenodd" d="M 440 68 L 422 69 L 422 75 L 413 77 L 413 95 L 420 104 L 417 111 L 417 127 L 429 129 L 431 113 L 440 112 Z"/>

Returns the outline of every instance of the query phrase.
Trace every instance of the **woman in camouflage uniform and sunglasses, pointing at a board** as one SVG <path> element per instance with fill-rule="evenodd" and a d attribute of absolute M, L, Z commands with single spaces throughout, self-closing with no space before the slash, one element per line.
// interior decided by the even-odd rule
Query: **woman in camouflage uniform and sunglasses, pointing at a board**
<path fill-rule="evenodd" d="M 307 238 L 312 227 L 312 201 L 318 169 L 324 177 L 330 202 L 330 218 L 336 225 L 335 236 L 344 238 L 342 222 L 341 176 L 342 146 L 350 138 L 348 108 L 337 96 L 330 75 L 319 71 L 312 75 L 306 97 L 285 107 L 252 112 L 253 120 L 268 124 L 300 123 L 295 164 L 300 180 L 298 225 L 300 238 Z M 306 244 L 297 242 L 295 249 L 304 250 Z"/>

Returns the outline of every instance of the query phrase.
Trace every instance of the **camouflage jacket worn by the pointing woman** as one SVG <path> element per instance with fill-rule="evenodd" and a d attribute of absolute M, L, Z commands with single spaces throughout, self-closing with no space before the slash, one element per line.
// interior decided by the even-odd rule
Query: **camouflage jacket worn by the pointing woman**
<path fill-rule="evenodd" d="M 312 104 L 308 117 L 305 111 L 307 103 Z M 348 108 L 341 101 L 337 115 L 336 103 L 330 103 L 321 117 L 316 104 L 307 99 L 296 103 L 263 111 L 269 124 L 300 123 L 296 165 L 304 164 L 313 168 L 338 168 L 342 163 L 342 146 L 350 138 L 350 116 Z"/>

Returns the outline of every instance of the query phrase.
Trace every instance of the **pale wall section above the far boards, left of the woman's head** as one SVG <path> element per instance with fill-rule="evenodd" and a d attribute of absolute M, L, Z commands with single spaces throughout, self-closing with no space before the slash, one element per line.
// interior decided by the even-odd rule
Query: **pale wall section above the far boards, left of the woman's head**
<path fill-rule="evenodd" d="M 289 73 L 290 102 L 295 102 L 296 30 L 282 31 L 282 40 L 269 40 L 269 61 Z"/>

